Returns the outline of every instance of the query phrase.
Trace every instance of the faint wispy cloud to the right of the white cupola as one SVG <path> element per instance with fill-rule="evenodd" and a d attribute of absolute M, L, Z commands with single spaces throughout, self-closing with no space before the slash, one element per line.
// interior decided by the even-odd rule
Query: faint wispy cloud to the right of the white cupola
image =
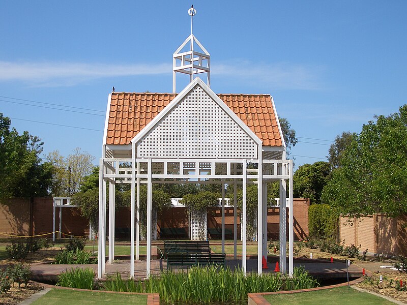
<path fill-rule="evenodd" d="M 325 68 L 292 63 L 251 63 L 235 60 L 232 64 L 215 65 L 213 74 L 244 80 L 252 85 L 272 89 L 320 90 Z"/>

